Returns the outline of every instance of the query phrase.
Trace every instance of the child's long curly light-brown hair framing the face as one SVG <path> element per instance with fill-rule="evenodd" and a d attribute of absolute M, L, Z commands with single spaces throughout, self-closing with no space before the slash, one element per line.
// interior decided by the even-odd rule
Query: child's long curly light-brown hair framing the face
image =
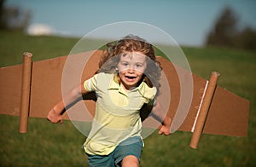
<path fill-rule="evenodd" d="M 127 52 L 139 52 L 150 58 L 147 60 L 147 68 L 144 72 L 142 81 L 147 83 L 149 87 L 154 86 L 159 89 L 162 68 L 160 62 L 156 60 L 154 47 L 152 44 L 147 43 L 143 38 L 134 35 L 128 35 L 117 42 L 107 44 L 107 49 L 103 50 L 103 55 L 99 62 L 98 72 L 116 72 L 120 55 Z M 117 82 L 119 82 L 118 73 L 116 74 L 116 78 Z"/>

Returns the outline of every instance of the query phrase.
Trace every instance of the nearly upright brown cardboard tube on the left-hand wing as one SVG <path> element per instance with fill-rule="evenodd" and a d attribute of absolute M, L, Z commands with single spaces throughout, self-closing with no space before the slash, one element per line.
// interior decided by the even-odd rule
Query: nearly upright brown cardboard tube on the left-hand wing
<path fill-rule="evenodd" d="M 26 133 L 30 106 L 30 89 L 32 80 L 32 54 L 23 53 L 23 72 L 20 102 L 20 133 Z"/>

